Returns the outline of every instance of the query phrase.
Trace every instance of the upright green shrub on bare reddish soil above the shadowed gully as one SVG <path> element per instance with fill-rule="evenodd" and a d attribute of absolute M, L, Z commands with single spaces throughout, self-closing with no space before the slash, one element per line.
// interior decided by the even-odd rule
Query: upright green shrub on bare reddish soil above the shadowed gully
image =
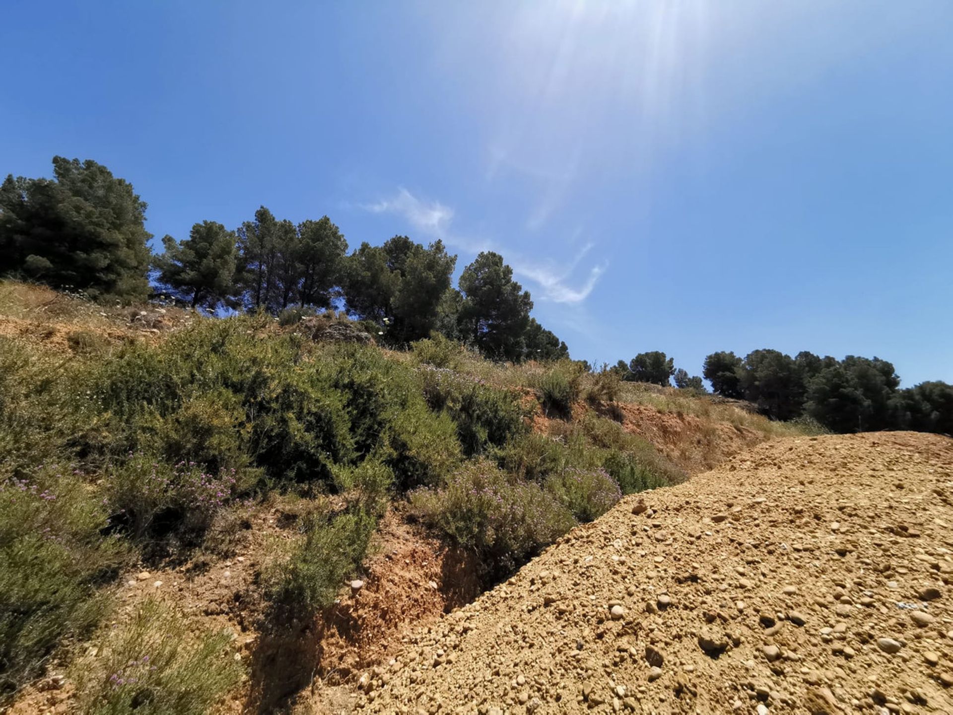
<path fill-rule="evenodd" d="M 345 579 L 364 560 L 375 527 L 375 516 L 359 506 L 337 515 L 306 514 L 300 540 L 266 573 L 270 598 L 301 614 L 334 603 Z"/>

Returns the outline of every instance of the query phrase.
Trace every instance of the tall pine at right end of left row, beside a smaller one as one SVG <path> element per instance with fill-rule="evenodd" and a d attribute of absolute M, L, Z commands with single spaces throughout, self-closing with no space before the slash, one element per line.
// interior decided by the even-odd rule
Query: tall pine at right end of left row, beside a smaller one
<path fill-rule="evenodd" d="M 533 300 L 513 279 L 503 256 L 483 252 L 463 269 L 459 279 L 464 296 L 460 321 L 466 335 L 484 355 L 519 360 L 525 350 Z"/>

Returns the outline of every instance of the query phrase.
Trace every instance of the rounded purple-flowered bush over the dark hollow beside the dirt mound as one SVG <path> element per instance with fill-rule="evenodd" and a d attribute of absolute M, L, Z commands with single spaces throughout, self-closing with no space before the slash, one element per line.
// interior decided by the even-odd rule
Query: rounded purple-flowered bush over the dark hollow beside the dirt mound
<path fill-rule="evenodd" d="M 414 492 L 411 508 L 458 545 L 475 549 L 490 577 L 513 571 L 576 523 L 537 484 L 488 460 L 465 463 L 438 489 Z"/>

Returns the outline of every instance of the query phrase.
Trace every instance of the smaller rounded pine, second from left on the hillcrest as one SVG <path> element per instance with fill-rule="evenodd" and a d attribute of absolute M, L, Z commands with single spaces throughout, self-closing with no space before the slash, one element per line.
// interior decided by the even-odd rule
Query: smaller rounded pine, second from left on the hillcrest
<path fill-rule="evenodd" d="M 192 227 L 189 237 L 178 243 L 167 235 L 165 253 L 156 256 L 158 280 L 193 308 L 214 310 L 219 304 L 236 304 L 235 266 L 237 236 L 215 221 Z"/>

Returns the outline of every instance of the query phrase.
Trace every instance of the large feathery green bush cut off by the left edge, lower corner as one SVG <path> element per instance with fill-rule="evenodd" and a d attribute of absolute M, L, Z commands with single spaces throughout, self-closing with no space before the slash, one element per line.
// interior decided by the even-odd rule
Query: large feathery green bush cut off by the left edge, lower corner
<path fill-rule="evenodd" d="M 106 605 L 97 586 L 123 561 L 90 490 L 53 466 L 0 481 L 0 703 L 38 675 L 66 637 L 81 638 Z"/>

